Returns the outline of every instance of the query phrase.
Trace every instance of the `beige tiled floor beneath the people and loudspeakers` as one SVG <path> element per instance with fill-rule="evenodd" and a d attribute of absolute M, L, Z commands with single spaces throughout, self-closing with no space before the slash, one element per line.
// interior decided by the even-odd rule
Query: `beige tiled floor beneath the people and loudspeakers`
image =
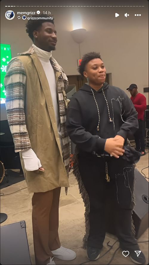
<path fill-rule="evenodd" d="M 137 164 L 137 169 L 141 172 L 142 168 L 148 166 L 148 154 L 140 158 Z M 148 177 L 148 169 L 143 170 L 143 173 Z M 70 188 L 68 195 L 65 195 L 64 188 L 61 190 L 60 195 L 60 209 L 59 209 L 59 236 L 61 240 L 61 245 L 67 248 L 73 249 L 77 253 L 77 257 L 73 261 L 61 261 L 55 258 L 56 264 L 108 264 L 112 254 L 115 249 L 119 246 L 118 242 L 114 247 L 103 257 L 97 261 L 91 262 L 86 256 L 86 250 L 82 249 L 82 238 L 85 232 L 84 224 L 84 204 L 82 198 L 79 194 L 79 189 L 77 186 L 77 181 L 73 174 L 69 177 Z M 12 224 L 18 221 L 25 220 L 27 226 L 27 238 L 30 248 L 30 256 L 32 264 L 35 264 L 34 258 L 34 247 L 33 247 L 33 237 L 32 237 L 32 204 L 31 198 L 32 194 L 29 194 L 25 188 L 26 182 L 21 181 L 19 183 L 13 184 L 10 187 L 1 189 L 4 194 L 10 194 L 19 189 L 22 189 L 11 195 L 1 197 L 1 212 L 5 212 L 8 215 L 8 219 L 1 225 Z M 101 255 L 103 255 L 109 247 L 109 244 L 113 244 L 117 238 L 113 235 L 107 234 L 104 241 L 104 247 L 102 249 Z M 139 238 L 139 241 L 148 241 L 148 229 Z M 146 264 L 148 264 L 148 243 L 140 243 L 140 248 L 146 256 Z M 130 257 L 124 257 L 120 249 L 117 251 L 113 261 L 110 264 L 134 264 Z"/>

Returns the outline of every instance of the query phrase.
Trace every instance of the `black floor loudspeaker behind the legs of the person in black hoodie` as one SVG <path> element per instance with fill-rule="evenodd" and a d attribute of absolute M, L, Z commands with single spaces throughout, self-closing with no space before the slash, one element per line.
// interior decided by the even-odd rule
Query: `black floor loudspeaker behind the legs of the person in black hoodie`
<path fill-rule="evenodd" d="M 135 207 L 133 209 L 133 221 L 135 226 L 135 238 L 138 239 L 148 229 L 148 181 L 142 174 L 134 170 L 135 175 Z M 113 218 L 112 206 L 106 206 L 106 231 L 116 235 L 116 227 Z"/>

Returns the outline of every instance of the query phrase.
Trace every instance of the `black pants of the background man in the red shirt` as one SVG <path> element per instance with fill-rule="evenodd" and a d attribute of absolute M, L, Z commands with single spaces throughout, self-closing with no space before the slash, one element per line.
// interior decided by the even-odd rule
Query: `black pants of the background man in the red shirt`
<path fill-rule="evenodd" d="M 138 120 L 139 129 L 134 134 L 136 150 L 140 152 L 145 152 L 145 140 L 144 140 L 144 121 Z"/>

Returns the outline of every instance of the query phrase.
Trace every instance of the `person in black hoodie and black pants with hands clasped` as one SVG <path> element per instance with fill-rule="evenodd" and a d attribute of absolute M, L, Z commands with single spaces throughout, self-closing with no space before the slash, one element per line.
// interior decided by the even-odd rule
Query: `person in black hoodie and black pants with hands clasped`
<path fill-rule="evenodd" d="M 134 165 L 124 159 L 127 135 L 138 129 L 137 112 L 123 90 L 105 83 L 106 70 L 99 53 L 85 54 L 78 71 L 89 85 L 84 84 L 72 97 L 66 124 L 77 147 L 74 174 L 86 206 L 84 247 L 90 260 L 100 257 L 108 200 L 120 249 L 129 251 L 134 263 L 144 264 L 144 254 L 137 257 L 135 252 L 139 245 L 132 225 Z"/>

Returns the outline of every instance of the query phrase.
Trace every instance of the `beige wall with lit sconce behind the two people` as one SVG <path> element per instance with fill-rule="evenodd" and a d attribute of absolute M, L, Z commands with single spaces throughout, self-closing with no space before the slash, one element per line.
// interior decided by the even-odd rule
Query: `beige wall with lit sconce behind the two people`
<path fill-rule="evenodd" d="M 38 9 L 38 8 L 36 8 Z M 33 11 L 35 8 L 24 9 Z M 40 11 L 45 8 L 40 7 Z M 133 7 L 128 18 L 128 8 L 123 8 L 115 18 L 115 10 L 111 8 L 48 8 L 55 17 L 58 43 L 53 56 L 63 67 L 67 75 L 76 75 L 79 46 L 72 39 L 72 14 L 81 13 L 83 28 L 87 30 L 85 41 L 80 44 L 81 56 L 90 51 L 100 52 L 107 73 L 112 73 L 112 84 L 120 87 L 126 93 L 126 88 L 135 83 L 138 91 L 143 93 L 143 87 L 148 87 L 148 16 L 147 9 L 141 17 L 135 17 Z M 4 18 L 7 7 L 3 7 L 1 15 L 1 43 L 11 44 L 12 56 L 25 51 L 32 41 L 25 32 L 27 20 Z M 15 11 L 15 10 L 14 10 Z M 22 8 L 17 9 L 22 11 Z M 130 10 L 129 10 L 130 11 Z M 17 14 L 15 15 L 17 17 Z M 129 93 L 128 93 L 129 95 Z M 144 93 L 148 98 L 148 93 Z M 148 99 L 147 99 L 148 103 Z"/>

